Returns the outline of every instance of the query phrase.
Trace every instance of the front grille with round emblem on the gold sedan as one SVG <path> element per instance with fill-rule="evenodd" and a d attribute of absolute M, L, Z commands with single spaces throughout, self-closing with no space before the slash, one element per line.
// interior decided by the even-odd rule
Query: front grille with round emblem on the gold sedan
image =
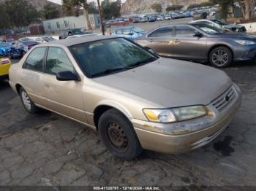
<path fill-rule="evenodd" d="M 236 98 L 236 96 L 236 89 L 232 85 L 225 91 L 225 93 L 222 93 L 222 95 L 219 95 L 219 97 L 214 99 L 214 101 L 211 101 L 211 104 L 217 110 L 219 110 L 219 112 L 222 112 L 222 110 L 230 105 L 230 103 L 233 101 L 234 98 Z"/>

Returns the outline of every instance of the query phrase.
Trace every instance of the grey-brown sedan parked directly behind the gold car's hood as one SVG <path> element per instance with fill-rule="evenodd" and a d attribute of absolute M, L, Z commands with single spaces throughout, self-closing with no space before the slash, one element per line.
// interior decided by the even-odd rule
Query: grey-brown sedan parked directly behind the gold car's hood
<path fill-rule="evenodd" d="M 256 36 L 228 33 L 203 23 L 160 27 L 136 42 L 158 55 L 209 61 L 217 68 L 230 66 L 233 61 L 252 61 L 256 55 Z"/>

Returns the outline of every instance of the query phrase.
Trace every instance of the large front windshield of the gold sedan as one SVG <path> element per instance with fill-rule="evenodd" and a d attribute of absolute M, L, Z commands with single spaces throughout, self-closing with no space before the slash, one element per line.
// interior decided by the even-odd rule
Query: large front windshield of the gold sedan
<path fill-rule="evenodd" d="M 87 77 L 101 77 L 157 60 L 157 56 L 126 39 L 105 39 L 70 47 Z"/>

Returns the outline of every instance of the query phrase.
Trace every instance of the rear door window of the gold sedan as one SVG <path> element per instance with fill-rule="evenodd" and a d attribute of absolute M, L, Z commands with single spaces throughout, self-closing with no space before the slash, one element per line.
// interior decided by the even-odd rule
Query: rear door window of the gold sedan
<path fill-rule="evenodd" d="M 35 48 L 26 58 L 23 69 L 31 69 L 34 71 L 42 71 L 43 61 L 45 57 L 46 47 Z"/>

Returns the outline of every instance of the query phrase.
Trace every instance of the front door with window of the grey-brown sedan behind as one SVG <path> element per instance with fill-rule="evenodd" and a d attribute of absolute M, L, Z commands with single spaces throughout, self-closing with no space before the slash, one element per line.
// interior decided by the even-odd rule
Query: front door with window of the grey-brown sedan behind
<path fill-rule="evenodd" d="M 195 28 L 191 26 L 176 26 L 176 36 L 173 49 L 175 57 L 185 60 L 205 60 L 207 39 L 206 36 L 194 36 Z"/>

